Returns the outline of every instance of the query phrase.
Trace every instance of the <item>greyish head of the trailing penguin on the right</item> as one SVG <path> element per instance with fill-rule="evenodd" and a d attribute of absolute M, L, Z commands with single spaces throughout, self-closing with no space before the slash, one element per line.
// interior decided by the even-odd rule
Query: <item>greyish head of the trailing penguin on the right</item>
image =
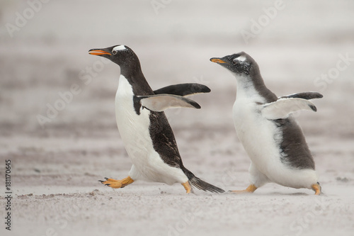
<path fill-rule="evenodd" d="M 238 75 L 259 73 L 258 64 L 246 52 L 239 52 L 221 58 L 212 57 L 210 61 L 220 64 Z"/>

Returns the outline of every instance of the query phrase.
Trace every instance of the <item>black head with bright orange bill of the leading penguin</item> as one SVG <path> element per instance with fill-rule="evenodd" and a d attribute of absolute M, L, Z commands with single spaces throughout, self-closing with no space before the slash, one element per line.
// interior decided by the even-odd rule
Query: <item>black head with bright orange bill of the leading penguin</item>
<path fill-rule="evenodd" d="M 140 71 L 140 62 L 137 55 L 130 47 L 125 45 L 115 45 L 102 49 L 91 49 L 89 54 L 105 57 L 120 66 L 122 74 L 124 72 Z"/>

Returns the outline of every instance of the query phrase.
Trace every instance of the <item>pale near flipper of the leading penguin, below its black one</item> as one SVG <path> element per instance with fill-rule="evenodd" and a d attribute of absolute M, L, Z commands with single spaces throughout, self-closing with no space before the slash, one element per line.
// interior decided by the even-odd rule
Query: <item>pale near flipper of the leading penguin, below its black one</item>
<path fill-rule="evenodd" d="M 191 99 L 171 94 L 137 96 L 137 99 L 150 111 L 165 111 L 168 108 L 200 108 L 200 105 Z"/>

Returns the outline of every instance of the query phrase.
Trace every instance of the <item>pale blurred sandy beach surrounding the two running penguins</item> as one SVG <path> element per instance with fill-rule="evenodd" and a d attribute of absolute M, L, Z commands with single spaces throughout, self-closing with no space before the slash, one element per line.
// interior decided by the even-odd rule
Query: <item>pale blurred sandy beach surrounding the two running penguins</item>
<path fill-rule="evenodd" d="M 0 6 L 0 235 L 353 235 L 352 1 L 49 1 L 12 38 L 6 24 L 31 6 Z M 253 20 L 275 6 L 247 43 L 241 32 L 252 33 Z M 117 44 L 135 50 L 154 89 L 185 82 L 212 89 L 193 96 L 202 109 L 166 114 L 185 167 L 225 190 L 249 184 L 249 158 L 232 121 L 236 83 L 210 57 L 245 51 L 275 94 L 324 94 L 316 113 L 296 114 L 324 194 L 276 184 L 246 195 L 100 184 L 127 176 L 131 162 L 115 124 L 119 67 L 87 51 Z"/>

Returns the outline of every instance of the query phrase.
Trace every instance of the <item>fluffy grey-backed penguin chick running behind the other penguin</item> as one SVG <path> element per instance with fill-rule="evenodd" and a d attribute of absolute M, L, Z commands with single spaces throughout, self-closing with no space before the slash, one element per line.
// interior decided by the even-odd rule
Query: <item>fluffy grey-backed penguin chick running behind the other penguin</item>
<path fill-rule="evenodd" d="M 253 193 L 274 182 L 295 189 L 313 189 L 319 195 L 321 186 L 314 159 L 291 113 L 316 111 L 308 99 L 319 99 L 322 95 L 305 92 L 278 98 L 265 86 L 256 61 L 245 52 L 213 57 L 210 61 L 229 69 L 236 77 L 234 125 L 251 159 L 249 187 L 232 192 Z"/>

